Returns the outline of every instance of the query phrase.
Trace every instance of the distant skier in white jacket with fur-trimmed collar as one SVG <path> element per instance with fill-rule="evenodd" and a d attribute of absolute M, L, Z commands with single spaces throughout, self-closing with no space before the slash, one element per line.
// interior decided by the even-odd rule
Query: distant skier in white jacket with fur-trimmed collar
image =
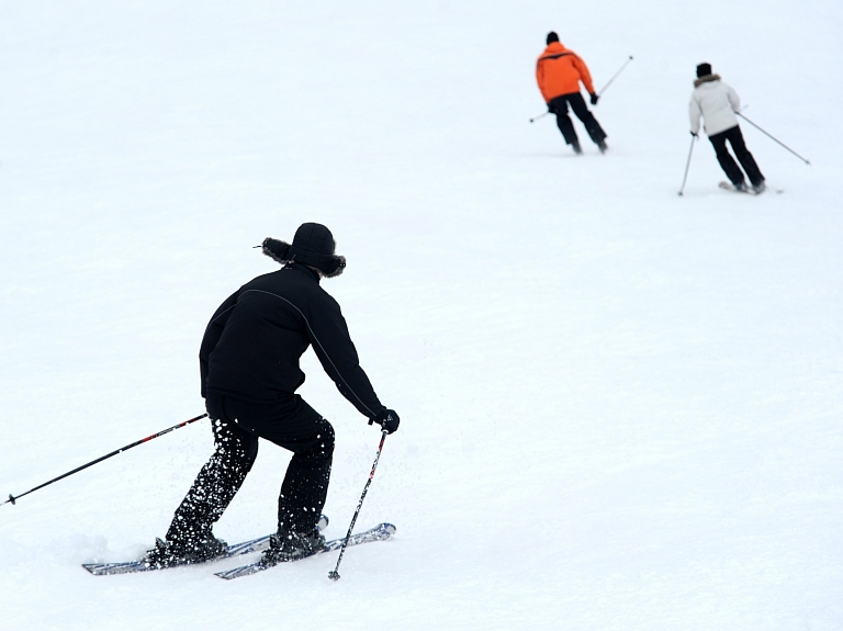
<path fill-rule="evenodd" d="M 732 151 L 741 162 L 741 167 L 750 178 L 753 191 L 761 193 L 765 190 L 764 176 L 755 164 L 746 144 L 743 142 L 741 127 L 734 115 L 740 111 L 741 99 L 731 86 L 720 80 L 720 75 L 711 74 L 710 64 L 697 66 L 697 80 L 694 81 L 694 93 L 690 95 L 688 113 L 690 114 L 690 134 L 699 133 L 699 117 L 705 119 L 705 129 L 708 139 L 715 147 L 717 161 L 720 162 L 727 177 L 739 191 L 746 190 L 743 173 L 734 162 L 726 142 L 732 146 Z"/>

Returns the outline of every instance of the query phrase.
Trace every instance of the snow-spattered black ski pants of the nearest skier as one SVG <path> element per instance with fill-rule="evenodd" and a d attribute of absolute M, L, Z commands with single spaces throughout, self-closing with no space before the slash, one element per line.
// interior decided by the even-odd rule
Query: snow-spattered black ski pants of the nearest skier
<path fill-rule="evenodd" d="M 258 405 L 209 394 L 214 453 L 176 510 L 167 539 L 207 534 L 240 488 L 258 455 L 258 438 L 293 452 L 278 499 L 279 529 L 311 532 L 325 506 L 334 428 L 299 395 Z M 236 422 L 235 422 L 236 420 Z"/>

